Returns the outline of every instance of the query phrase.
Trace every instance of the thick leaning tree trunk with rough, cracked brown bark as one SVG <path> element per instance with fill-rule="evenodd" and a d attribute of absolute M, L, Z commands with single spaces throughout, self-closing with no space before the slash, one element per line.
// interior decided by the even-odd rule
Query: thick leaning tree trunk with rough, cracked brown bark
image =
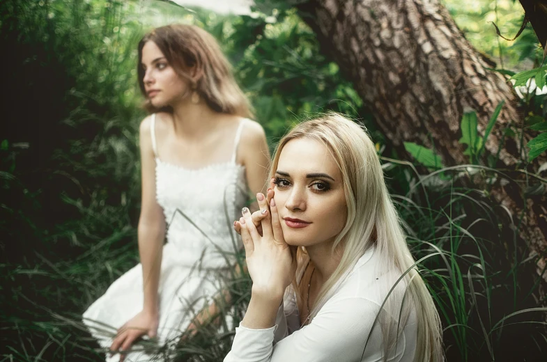
<path fill-rule="evenodd" d="M 445 165 L 468 164 L 459 143 L 463 113 L 475 109 L 482 136 L 504 101 L 485 157 L 500 148 L 498 168 L 537 172 L 545 158 L 525 165 L 520 139 L 504 138 L 510 124 L 523 126 L 514 91 L 501 74 L 486 69 L 492 62 L 470 45 L 438 0 L 300 0 L 296 6 L 401 155 L 408 141 L 434 148 Z M 511 175 L 524 182 L 522 173 Z M 514 223 L 523 214 L 521 239 L 532 253 L 545 255 L 547 198 L 524 197 L 522 189 L 514 182 L 498 184 L 492 196 L 511 210 Z M 539 258 L 539 269 L 545 262 Z"/>

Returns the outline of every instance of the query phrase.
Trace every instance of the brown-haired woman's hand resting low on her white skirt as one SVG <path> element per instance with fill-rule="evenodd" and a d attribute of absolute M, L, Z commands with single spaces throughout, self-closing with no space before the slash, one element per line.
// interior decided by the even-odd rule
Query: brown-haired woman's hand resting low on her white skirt
<path fill-rule="evenodd" d="M 127 323 L 118 329 L 118 335 L 110 346 L 111 353 L 125 352 L 142 336 L 154 338 L 157 334 L 159 323 L 157 313 L 149 313 L 144 310 L 137 313 Z M 125 359 L 125 354 L 120 354 L 120 362 Z"/>

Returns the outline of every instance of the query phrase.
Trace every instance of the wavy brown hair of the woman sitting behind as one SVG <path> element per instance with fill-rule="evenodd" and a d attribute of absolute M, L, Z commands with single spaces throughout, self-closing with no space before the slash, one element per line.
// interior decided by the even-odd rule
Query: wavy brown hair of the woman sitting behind
<path fill-rule="evenodd" d="M 218 42 L 207 31 L 194 25 L 171 24 L 147 33 L 139 42 L 139 87 L 144 90 L 142 48 L 153 41 L 160 48 L 169 64 L 180 77 L 186 79 L 190 88 L 214 111 L 252 117 L 249 100 L 233 78 L 231 65 L 222 53 Z M 192 73 L 190 73 L 192 70 Z M 157 109 L 147 102 L 151 112 Z"/>

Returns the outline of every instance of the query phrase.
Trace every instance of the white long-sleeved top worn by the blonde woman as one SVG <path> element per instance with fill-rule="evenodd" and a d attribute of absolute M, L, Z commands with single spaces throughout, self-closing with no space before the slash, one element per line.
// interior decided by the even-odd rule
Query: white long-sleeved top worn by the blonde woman
<path fill-rule="evenodd" d="M 381 272 L 375 251 L 372 247 L 362 255 L 337 292 L 306 326 L 300 328 L 293 291 L 286 293 L 275 326 L 248 329 L 240 325 L 224 362 L 383 361 L 380 324 L 389 320 L 396 328 L 399 319 L 390 316 L 382 322 L 374 321 L 387 295 L 385 285 L 394 285 L 400 274 Z M 380 281 L 384 278 L 387 283 Z M 396 288 L 404 288 L 403 283 Z M 386 314 L 380 313 L 383 317 Z M 387 361 L 413 362 L 417 338 L 414 312 L 400 329 L 399 340 Z"/>

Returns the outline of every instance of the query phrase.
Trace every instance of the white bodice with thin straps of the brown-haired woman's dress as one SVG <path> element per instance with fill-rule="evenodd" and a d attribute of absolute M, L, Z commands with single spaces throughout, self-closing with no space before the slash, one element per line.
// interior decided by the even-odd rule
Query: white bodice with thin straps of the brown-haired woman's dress
<path fill-rule="evenodd" d="M 154 129 L 155 115 L 151 127 Z M 167 223 L 167 242 L 180 253 L 181 265 L 225 267 L 240 245 L 233 221 L 247 201 L 245 166 L 236 163 L 240 121 L 231 161 L 190 169 L 157 157 L 155 132 L 156 199 Z"/>

